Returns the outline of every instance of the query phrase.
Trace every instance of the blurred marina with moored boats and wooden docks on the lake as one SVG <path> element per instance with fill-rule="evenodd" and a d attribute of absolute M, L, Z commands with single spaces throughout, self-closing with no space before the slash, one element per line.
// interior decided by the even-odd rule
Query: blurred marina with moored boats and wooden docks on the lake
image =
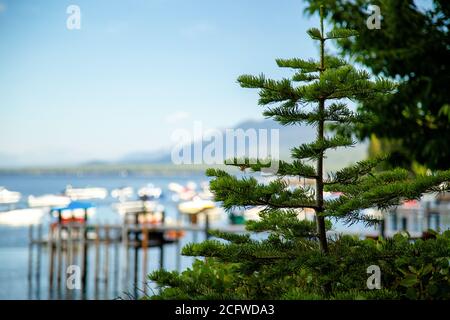
<path fill-rule="evenodd" d="M 0 213 L 0 259 L 5 259 L 10 247 L 22 256 L 16 259 L 22 261 L 20 265 L 9 272 L 3 266 L 0 295 L 4 298 L 8 283 L 16 283 L 14 274 L 19 271 L 24 287 L 16 283 L 16 298 L 134 299 L 151 294 L 157 288 L 147 281 L 150 272 L 161 268 L 182 271 L 191 264 L 194 258 L 180 254 L 185 244 L 208 239 L 211 229 L 245 232 L 245 221 L 258 219 L 263 209 L 224 212 L 212 201 L 200 175 L 178 178 L 178 182 L 173 177 L 46 177 L 42 181 L 15 177 L 15 181 L 20 179 L 24 184 L 11 190 L 19 190 L 26 202 L 17 202 L 13 209 L 4 204 L 6 209 Z M 52 194 L 49 187 L 54 188 L 55 180 L 59 185 L 77 181 L 77 195 Z M 33 184 L 31 193 L 27 188 Z M 88 191 L 94 190 L 89 194 L 82 185 L 102 187 L 89 187 Z M 106 190 L 107 197 L 99 198 L 99 189 Z M 143 189 L 147 191 L 144 197 L 135 192 Z M 35 190 L 45 193 L 33 196 L 39 194 Z M 83 200 L 79 200 L 81 194 Z M 338 196 L 328 194 L 327 199 Z M 30 202 L 33 198 L 36 201 Z M 371 228 L 335 224 L 329 236 L 345 233 L 376 238 L 407 231 L 412 238 L 422 238 L 429 228 L 450 227 L 447 198 L 430 195 L 384 214 L 367 210 L 366 214 L 382 218 L 383 223 Z M 314 212 L 299 211 L 298 217 L 311 220 Z M 11 232 L 15 235 L 9 237 Z M 14 241 L 19 243 L 14 245 Z M 71 289 L 68 283 L 75 276 L 79 283 L 75 281 Z"/>

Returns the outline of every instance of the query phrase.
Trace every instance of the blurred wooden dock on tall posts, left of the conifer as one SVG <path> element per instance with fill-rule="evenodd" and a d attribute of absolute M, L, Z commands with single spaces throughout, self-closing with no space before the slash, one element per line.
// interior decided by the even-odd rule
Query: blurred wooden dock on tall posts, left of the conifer
<path fill-rule="evenodd" d="M 182 221 L 167 223 L 164 220 L 158 224 L 136 223 L 138 214 L 135 217 L 135 223 L 69 222 L 30 226 L 30 298 L 40 299 L 41 278 L 48 281 L 48 286 L 44 287 L 48 288 L 49 299 L 72 299 L 75 294 L 78 295 L 75 298 L 79 299 L 110 299 L 123 294 L 141 296 L 150 289 L 146 285 L 147 274 L 152 271 L 149 270 L 149 262 L 158 260 L 158 268 L 164 268 L 166 247 L 174 247 L 175 269 L 181 270 L 183 236 L 190 234 L 194 242 L 198 237 L 209 238 L 208 215 L 205 215 L 202 224 Z M 226 225 L 214 229 L 245 232 L 243 225 Z M 159 257 L 152 260 L 150 250 L 154 251 L 155 248 L 159 251 Z M 43 252 L 47 255 L 46 261 L 43 261 Z M 44 271 L 44 264 L 47 271 Z M 75 290 L 68 288 L 72 269 L 80 273 L 79 287 Z M 111 291 L 113 296 L 106 294 Z"/>

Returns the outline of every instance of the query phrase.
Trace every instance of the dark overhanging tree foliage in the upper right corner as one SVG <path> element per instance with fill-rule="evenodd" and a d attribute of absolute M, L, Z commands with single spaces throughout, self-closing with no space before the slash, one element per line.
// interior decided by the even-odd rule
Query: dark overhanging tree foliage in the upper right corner
<path fill-rule="evenodd" d="M 447 169 L 450 159 L 450 2 L 448 0 L 306 0 L 307 12 L 320 5 L 337 28 L 359 37 L 339 39 L 342 54 L 375 75 L 401 79 L 393 95 L 365 100 L 359 111 L 373 121 L 357 124 L 359 138 L 371 138 L 372 154 L 390 152 L 392 166 L 417 164 Z M 416 5 L 417 4 L 417 5 Z M 380 29 L 368 29 L 369 5 L 380 7 Z M 375 151 L 375 152 L 374 152 Z M 417 172 L 417 170 L 414 170 Z"/>

